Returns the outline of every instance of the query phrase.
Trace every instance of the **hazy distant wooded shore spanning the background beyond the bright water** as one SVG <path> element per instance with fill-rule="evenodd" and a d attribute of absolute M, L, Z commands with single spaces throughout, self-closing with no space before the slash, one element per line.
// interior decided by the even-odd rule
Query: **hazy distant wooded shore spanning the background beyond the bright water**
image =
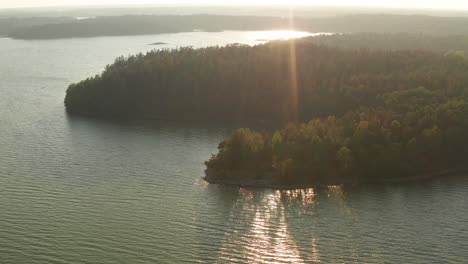
<path fill-rule="evenodd" d="M 278 30 L 309 32 L 378 32 L 468 35 L 468 18 L 422 15 L 347 15 L 293 20 L 264 16 L 217 15 L 127 15 L 102 16 L 64 23 L 36 25 L 10 32 L 19 39 L 54 39 L 71 37 L 123 36 L 190 32 L 193 30 Z"/>

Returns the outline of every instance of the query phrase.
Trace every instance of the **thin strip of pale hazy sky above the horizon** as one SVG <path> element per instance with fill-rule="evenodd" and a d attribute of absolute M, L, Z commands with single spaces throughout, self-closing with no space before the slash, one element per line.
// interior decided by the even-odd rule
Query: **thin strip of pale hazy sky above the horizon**
<path fill-rule="evenodd" d="M 468 0 L 0 0 L 0 8 L 73 5 L 322 5 L 468 10 Z"/>

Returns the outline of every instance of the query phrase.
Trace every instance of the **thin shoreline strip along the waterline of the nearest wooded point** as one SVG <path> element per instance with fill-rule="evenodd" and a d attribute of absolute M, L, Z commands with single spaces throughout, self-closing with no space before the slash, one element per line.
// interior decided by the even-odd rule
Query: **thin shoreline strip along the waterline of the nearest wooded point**
<path fill-rule="evenodd" d="M 231 177 L 222 178 L 219 177 L 219 174 L 216 174 L 214 169 L 207 169 L 205 171 L 205 176 L 203 180 L 209 184 L 224 185 L 224 186 L 236 186 L 240 188 L 259 188 L 259 189 L 274 189 L 274 190 L 297 190 L 297 189 L 310 189 L 324 186 L 343 186 L 343 185 L 384 185 L 384 184 L 398 184 L 398 183 L 409 183 L 409 182 L 418 182 L 418 181 L 428 181 L 435 178 L 468 173 L 468 168 L 463 169 L 449 169 L 441 170 L 433 173 L 426 173 L 421 175 L 416 175 L 414 177 L 408 178 L 395 178 L 395 179 L 384 179 L 378 181 L 349 181 L 349 182 L 334 182 L 330 181 L 328 183 L 315 183 L 315 184 L 274 184 L 272 182 L 272 174 L 269 173 L 266 176 L 253 176 L 255 172 L 230 172 Z M 226 173 L 225 173 L 226 174 Z M 241 177 L 232 177 L 233 175 L 242 174 Z M 246 177 L 247 175 L 247 177 Z"/>

